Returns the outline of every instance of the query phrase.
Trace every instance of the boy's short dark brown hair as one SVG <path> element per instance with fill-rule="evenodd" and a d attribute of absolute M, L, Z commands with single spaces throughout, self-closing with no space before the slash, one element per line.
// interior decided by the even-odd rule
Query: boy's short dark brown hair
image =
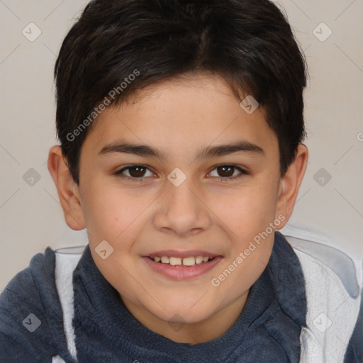
<path fill-rule="evenodd" d="M 57 135 L 74 181 L 97 105 L 121 104 L 137 89 L 196 72 L 220 75 L 238 99 L 250 94 L 263 106 L 284 176 L 306 136 L 306 62 L 275 4 L 94 0 L 55 63 Z"/>

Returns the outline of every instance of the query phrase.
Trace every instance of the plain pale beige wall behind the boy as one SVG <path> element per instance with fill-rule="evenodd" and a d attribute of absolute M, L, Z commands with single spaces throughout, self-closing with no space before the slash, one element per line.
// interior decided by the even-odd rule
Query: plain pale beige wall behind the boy
<path fill-rule="evenodd" d="M 31 257 L 85 245 L 65 224 L 48 173 L 55 138 L 53 67 L 88 1 L 0 0 L 0 290 Z M 310 160 L 289 225 L 363 257 L 363 1 L 274 1 L 306 54 Z"/>

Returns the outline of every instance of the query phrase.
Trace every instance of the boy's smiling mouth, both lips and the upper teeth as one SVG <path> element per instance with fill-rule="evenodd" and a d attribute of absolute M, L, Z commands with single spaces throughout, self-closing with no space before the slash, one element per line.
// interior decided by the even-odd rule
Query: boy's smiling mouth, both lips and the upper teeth
<path fill-rule="evenodd" d="M 155 252 L 142 259 L 153 272 L 174 280 L 188 280 L 211 271 L 223 259 L 208 252 Z"/>

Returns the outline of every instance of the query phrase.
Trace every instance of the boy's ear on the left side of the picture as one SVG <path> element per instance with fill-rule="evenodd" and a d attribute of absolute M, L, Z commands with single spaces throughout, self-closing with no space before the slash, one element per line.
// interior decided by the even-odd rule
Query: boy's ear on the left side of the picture
<path fill-rule="evenodd" d="M 57 187 L 60 204 L 65 214 L 65 222 L 72 230 L 82 230 L 84 224 L 79 186 L 69 172 L 65 157 L 60 146 L 53 146 L 49 151 L 48 170 Z"/>

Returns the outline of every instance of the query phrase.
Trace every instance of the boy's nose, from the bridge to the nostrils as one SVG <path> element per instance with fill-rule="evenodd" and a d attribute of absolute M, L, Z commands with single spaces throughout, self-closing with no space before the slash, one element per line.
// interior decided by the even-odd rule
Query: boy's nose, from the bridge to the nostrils
<path fill-rule="evenodd" d="M 186 178 L 179 186 L 167 181 L 154 217 L 157 230 L 186 237 L 200 233 L 211 225 L 206 201 L 203 201 L 201 191 L 191 179 Z"/>

